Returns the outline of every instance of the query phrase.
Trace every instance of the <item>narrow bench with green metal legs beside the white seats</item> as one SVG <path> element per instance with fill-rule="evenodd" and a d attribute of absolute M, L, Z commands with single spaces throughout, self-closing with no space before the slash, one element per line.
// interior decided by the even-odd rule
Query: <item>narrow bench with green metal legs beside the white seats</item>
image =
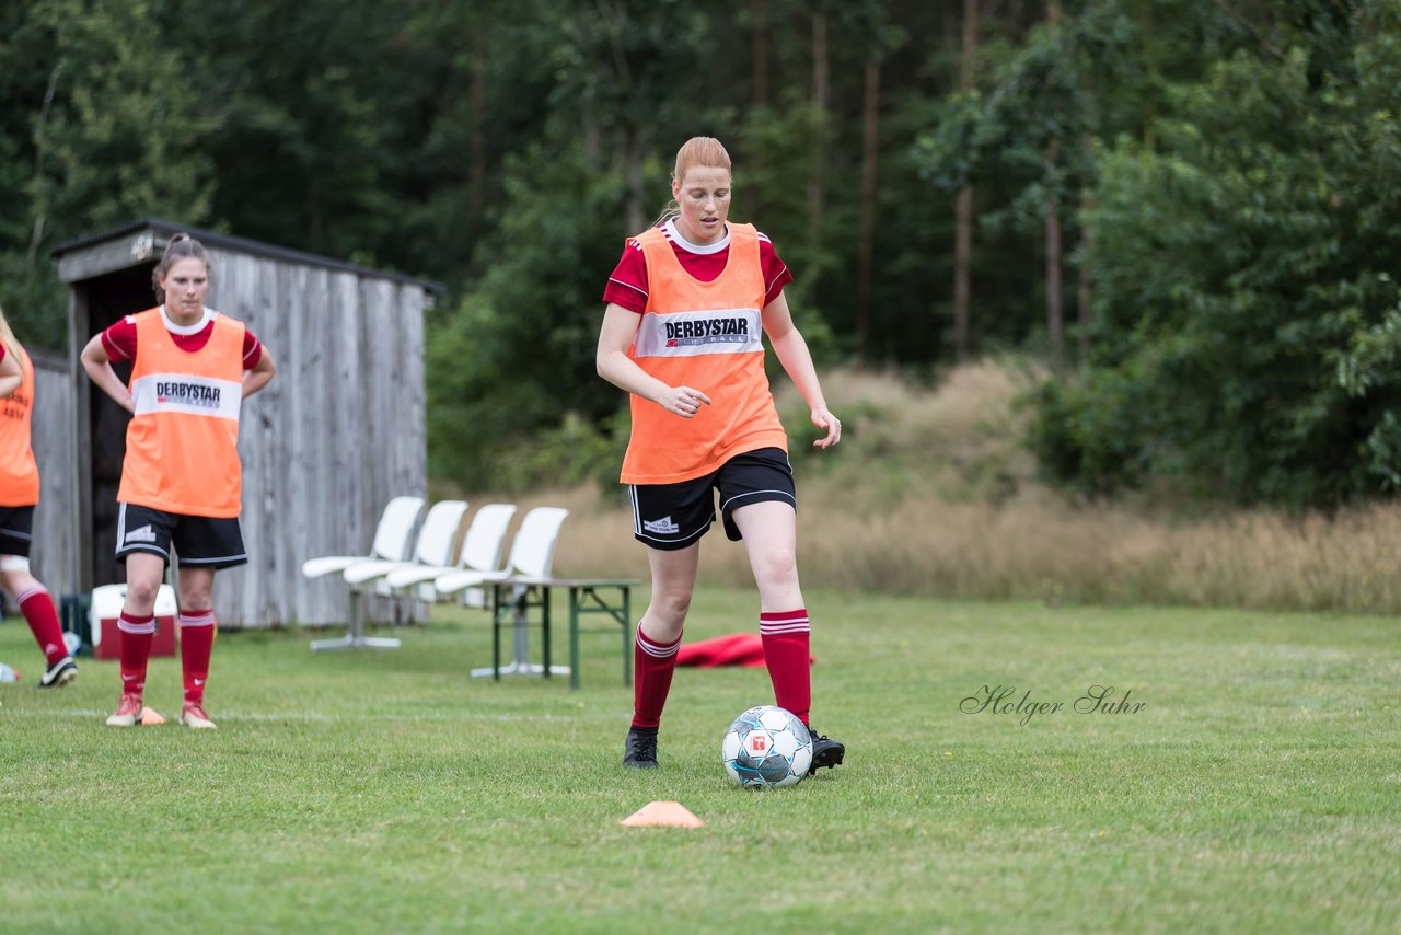
<path fill-rule="evenodd" d="M 500 578 L 492 587 L 492 677 L 506 674 L 541 674 L 551 677 L 552 594 L 569 594 L 569 687 L 579 688 L 579 635 L 609 632 L 622 635 L 622 683 L 632 684 L 632 589 L 635 579 L 625 578 Z M 544 666 L 530 663 L 530 615 L 539 610 L 541 655 Z M 580 627 L 580 618 L 601 615 L 618 625 Z M 502 666 L 502 625 L 513 634 L 513 659 Z"/>

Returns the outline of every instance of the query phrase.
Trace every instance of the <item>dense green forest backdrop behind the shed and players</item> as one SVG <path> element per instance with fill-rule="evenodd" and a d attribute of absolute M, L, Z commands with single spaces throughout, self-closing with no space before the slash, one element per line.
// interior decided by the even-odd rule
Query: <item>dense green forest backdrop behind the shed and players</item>
<path fill-rule="evenodd" d="M 621 444 L 593 367 L 605 276 L 677 144 L 712 133 L 822 366 L 853 350 L 863 248 L 871 355 L 947 362 L 972 185 L 981 352 L 1041 341 L 1048 205 L 1068 308 L 1093 279 L 1090 367 L 1040 397 L 1049 475 L 1290 505 L 1397 484 L 1397 0 L 1096 0 L 1059 24 L 1013 0 L 984 10 L 968 91 L 957 10 L 905 0 L 235 7 L 0 4 L 0 304 L 25 341 L 64 341 L 52 248 L 142 216 L 420 275 L 448 290 L 433 471 L 573 477 L 558 440 Z"/>

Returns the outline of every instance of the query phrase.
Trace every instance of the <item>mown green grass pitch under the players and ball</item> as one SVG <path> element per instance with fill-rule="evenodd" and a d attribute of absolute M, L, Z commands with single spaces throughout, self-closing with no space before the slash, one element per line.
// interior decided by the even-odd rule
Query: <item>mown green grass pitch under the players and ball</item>
<path fill-rule="evenodd" d="M 0 627 L 0 929 L 1395 931 L 1401 635 L 1376 617 L 811 592 L 815 723 L 846 765 L 729 785 L 762 669 L 681 670 L 661 768 L 618 767 L 618 641 L 584 685 L 465 677 L 481 613 L 388 653 L 226 634 L 217 732 L 116 730 L 115 663 L 34 690 Z M 752 628 L 708 589 L 689 638 Z M 174 718 L 178 663 L 147 701 Z M 968 714 L 984 685 L 1023 714 Z M 1136 714 L 1076 714 L 1090 685 Z M 978 698 L 964 702 L 965 698 Z M 656 799 L 706 827 L 626 828 Z"/>

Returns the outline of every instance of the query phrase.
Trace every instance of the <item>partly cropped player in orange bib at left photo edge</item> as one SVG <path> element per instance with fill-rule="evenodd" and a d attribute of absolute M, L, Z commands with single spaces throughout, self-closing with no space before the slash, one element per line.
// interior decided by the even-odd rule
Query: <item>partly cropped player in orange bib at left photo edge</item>
<path fill-rule="evenodd" d="M 78 674 L 63 642 L 53 597 L 29 573 L 34 507 L 39 503 L 39 465 L 29 447 L 34 415 L 34 364 L 0 311 L 0 585 L 43 650 L 48 669 L 39 688 L 66 685 Z"/>

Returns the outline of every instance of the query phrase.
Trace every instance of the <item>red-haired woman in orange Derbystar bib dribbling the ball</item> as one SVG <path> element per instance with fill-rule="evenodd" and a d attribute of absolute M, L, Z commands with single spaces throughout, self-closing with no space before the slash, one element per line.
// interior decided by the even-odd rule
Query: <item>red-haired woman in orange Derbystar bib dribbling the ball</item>
<path fill-rule="evenodd" d="M 804 725 L 811 707 L 808 615 L 799 587 L 797 496 L 787 435 L 764 374 L 764 335 L 811 409 L 828 449 L 842 425 L 827 408 L 768 237 L 729 223 L 730 156 L 688 140 L 663 220 L 630 238 L 604 292 L 598 374 L 630 394 L 622 464 L 633 534 L 647 547 L 651 603 L 637 622 L 632 726 L 622 764 L 656 768 L 657 729 L 695 590 L 700 537 L 719 516 L 743 540 L 759 587 L 759 635 L 775 701 Z M 845 746 L 813 735 L 813 767 Z"/>

